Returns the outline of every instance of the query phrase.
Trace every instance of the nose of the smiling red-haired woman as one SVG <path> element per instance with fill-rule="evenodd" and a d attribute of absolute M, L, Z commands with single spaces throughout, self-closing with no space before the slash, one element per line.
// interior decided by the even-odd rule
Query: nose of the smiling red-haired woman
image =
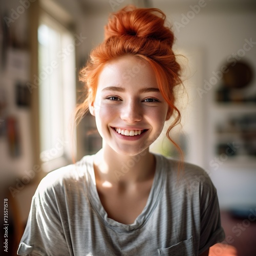
<path fill-rule="evenodd" d="M 122 106 L 120 117 L 122 120 L 129 123 L 136 123 L 141 121 L 142 108 L 140 104 L 132 100 L 127 102 L 125 105 Z"/>

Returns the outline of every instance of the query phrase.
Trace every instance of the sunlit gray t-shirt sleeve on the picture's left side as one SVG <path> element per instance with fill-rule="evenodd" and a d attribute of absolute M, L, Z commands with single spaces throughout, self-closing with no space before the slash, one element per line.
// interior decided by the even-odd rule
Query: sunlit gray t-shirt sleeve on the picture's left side
<path fill-rule="evenodd" d="M 18 255 L 71 255 L 59 219 L 53 188 L 41 182 L 32 199 Z"/>

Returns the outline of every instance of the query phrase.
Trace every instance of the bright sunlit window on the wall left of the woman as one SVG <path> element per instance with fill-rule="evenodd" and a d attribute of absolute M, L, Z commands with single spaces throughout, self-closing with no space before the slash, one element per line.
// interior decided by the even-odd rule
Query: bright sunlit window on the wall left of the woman
<path fill-rule="evenodd" d="M 75 108 L 73 34 L 43 12 L 38 28 L 40 159 L 49 172 L 70 162 Z M 75 152 L 73 152 L 75 153 Z"/>

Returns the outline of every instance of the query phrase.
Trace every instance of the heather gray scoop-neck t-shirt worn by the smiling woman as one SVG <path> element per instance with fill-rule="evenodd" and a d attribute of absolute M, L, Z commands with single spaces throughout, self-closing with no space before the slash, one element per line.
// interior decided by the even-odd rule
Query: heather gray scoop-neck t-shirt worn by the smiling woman
<path fill-rule="evenodd" d="M 223 241 L 216 188 L 203 169 L 160 155 L 146 206 L 135 222 L 108 218 L 94 156 L 48 174 L 32 200 L 19 255 L 198 255 Z M 179 180 L 179 181 L 178 181 Z"/>

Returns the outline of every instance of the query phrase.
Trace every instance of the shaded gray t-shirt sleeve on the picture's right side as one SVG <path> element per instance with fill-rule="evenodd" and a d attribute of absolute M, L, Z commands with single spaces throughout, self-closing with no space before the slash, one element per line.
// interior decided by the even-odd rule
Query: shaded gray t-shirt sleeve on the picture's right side
<path fill-rule="evenodd" d="M 221 226 L 220 208 L 218 196 L 214 185 L 209 181 L 213 190 L 212 196 L 205 195 L 201 200 L 201 233 L 199 254 L 206 251 L 212 245 L 224 240 L 225 233 Z M 210 193 L 211 194 L 211 193 Z"/>

